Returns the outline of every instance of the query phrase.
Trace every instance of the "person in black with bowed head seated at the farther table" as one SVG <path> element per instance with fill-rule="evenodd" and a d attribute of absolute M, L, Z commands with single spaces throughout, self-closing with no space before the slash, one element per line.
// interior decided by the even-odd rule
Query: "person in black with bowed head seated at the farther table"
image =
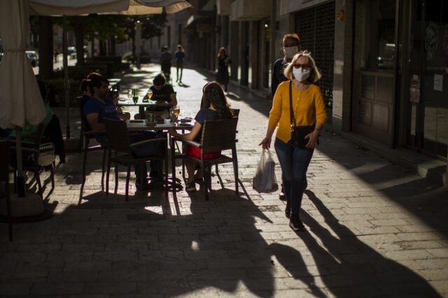
<path fill-rule="evenodd" d="M 155 106 L 148 107 L 147 110 L 161 112 L 167 111 L 169 108 L 177 105 L 176 92 L 173 86 L 167 84 L 167 79 L 163 73 L 159 73 L 153 79 L 153 86 L 149 88 L 153 92 L 151 101 L 155 101 Z M 145 95 L 144 101 L 148 99 L 148 94 Z"/>

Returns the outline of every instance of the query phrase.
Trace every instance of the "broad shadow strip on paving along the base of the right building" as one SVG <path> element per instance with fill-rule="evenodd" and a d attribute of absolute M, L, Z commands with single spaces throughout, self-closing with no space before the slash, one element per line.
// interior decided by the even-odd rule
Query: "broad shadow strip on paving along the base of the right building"
<path fill-rule="evenodd" d="M 368 183 L 375 191 L 382 192 L 392 202 L 400 204 L 435 231 L 448 237 L 448 205 L 444 199 L 448 197 L 448 187 L 420 178 L 402 166 L 385 162 L 363 148 L 350 148 L 355 146 L 349 141 L 332 143 L 332 136 L 323 136 L 321 139 L 327 142 L 322 142 L 318 150 L 330 160 L 344 166 L 349 173 Z"/>

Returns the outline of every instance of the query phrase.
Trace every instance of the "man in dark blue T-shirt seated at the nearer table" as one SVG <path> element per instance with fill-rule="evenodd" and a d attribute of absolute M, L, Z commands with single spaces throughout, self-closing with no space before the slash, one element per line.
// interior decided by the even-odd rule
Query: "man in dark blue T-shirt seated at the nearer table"
<path fill-rule="evenodd" d="M 116 106 L 113 104 L 110 97 L 107 97 L 109 92 L 109 81 L 102 76 L 94 76 L 90 78 L 89 89 L 92 97 L 84 105 L 83 113 L 87 120 L 90 129 L 94 132 L 102 132 L 106 129 L 104 126 L 104 118 L 111 120 L 124 120 L 120 118 Z M 143 141 L 145 139 L 155 139 L 159 136 L 156 132 L 141 132 L 141 134 L 132 134 L 132 143 Z M 106 146 L 106 134 L 97 134 L 95 139 L 102 145 Z M 160 150 L 160 146 L 138 146 L 132 149 L 132 153 L 136 157 L 144 157 L 152 155 Z M 151 169 L 158 169 L 157 162 L 151 162 Z M 137 190 L 148 189 L 146 182 L 147 169 L 146 164 L 135 166 L 135 175 L 137 177 Z"/>

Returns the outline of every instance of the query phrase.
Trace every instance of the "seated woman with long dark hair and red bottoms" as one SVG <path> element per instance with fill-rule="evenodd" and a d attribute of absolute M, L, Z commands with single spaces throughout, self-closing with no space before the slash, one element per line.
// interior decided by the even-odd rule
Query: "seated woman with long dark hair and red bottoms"
<path fill-rule="evenodd" d="M 233 117 L 233 111 L 230 109 L 227 99 L 224 95 L 223 87 L 218 82 L 207 83 L 202 88 L 202 102 L 200 111 L 197 112 L 195 117 L 195 125 L 188 134 L 179 134 L 176 129 L 169 129 L 169 134 L 176 138 L 186 141 L 200 142 L 202 136 L 202 125 L 205 120 L 218 120 L 228 119 Z M 201 159 L 200 148 L 193 146 L 186 146 L 186 155 Z M 219 157 L 221 152 L 209 152 L 204 154 L 204 159 L 214 159 Z M 194 192 L 196 190 L 195 185 L 195 169 L 198 164 L 188 160 L 186 162 L 186 168 L 188 173 L 187 180 L 187 192 Z M 197 173 L 196 178 L 202 178 L 201 173 Z"/>

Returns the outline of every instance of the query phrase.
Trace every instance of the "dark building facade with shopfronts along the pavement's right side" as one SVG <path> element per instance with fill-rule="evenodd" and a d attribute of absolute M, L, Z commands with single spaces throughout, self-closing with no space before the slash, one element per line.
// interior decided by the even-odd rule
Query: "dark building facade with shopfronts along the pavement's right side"
<path fill-rule="evenodd" d="M 335 132 L 447 161 L 447 1 L 191 2 L 194 8 L 169 25 L 183 27 L 190 62 L 214 71 L 224 46 L 231 80 L 270 99 L 281 38 L 296 32 L 323 73 L 319 84 Z"/>

